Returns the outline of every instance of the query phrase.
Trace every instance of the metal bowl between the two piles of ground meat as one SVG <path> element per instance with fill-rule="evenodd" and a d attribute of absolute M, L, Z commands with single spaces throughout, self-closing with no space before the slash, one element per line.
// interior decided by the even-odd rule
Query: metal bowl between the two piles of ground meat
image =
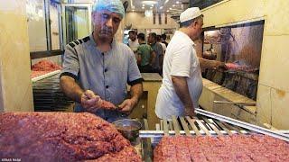
<path fill-rule="evenodd" d="M 142 128 L 142 123 L 137 120 L 124 119 L 112 122 L 117 130 L 129 141 L 135 141 Z"/>

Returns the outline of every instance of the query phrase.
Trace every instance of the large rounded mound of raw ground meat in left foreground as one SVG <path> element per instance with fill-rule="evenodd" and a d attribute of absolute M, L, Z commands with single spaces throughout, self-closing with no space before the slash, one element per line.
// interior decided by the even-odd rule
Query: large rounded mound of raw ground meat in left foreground
<path fill-rule="evenodd" d="M 0 113 L 0 157 L 22 161 L 141 161 L 112 124 L 87 112 Z"/>

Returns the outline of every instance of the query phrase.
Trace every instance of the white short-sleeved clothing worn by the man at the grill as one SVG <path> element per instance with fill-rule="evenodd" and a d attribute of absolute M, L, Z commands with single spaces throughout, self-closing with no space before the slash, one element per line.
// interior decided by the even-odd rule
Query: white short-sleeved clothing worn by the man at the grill
<path fill-rule="evenodd" d="M 159 89 L 155 113 L 161 119 L 171 119 L 172 115 L 183 116 L 184 106 L 172 85 L 171 76 L 187 77 L 191 101 L 199 107 L 202 91 L 200 63 L 194 49 L 194 42 L 182 31 L 175 31 L 163 60 L 163 84 Z"/>

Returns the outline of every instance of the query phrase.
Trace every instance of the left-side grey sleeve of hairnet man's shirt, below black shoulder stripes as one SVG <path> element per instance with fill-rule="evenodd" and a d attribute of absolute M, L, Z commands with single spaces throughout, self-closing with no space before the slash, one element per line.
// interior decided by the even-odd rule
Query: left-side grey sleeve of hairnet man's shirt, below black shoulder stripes
<path fill-rule="evenodd" d="M 67 45 L 64 52 L 61 76 L 71 76 L 77 80 L 79 75 L 79 58 L 76 49 Z"/>

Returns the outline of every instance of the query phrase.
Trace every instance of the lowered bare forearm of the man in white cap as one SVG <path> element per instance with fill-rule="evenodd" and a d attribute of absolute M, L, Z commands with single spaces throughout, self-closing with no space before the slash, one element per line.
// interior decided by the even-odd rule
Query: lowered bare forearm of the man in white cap
<path fill-rule="evenodd" d="M 172 85 L 185 108 L 193 107 L 186 77 L 172 76 Z"/>

